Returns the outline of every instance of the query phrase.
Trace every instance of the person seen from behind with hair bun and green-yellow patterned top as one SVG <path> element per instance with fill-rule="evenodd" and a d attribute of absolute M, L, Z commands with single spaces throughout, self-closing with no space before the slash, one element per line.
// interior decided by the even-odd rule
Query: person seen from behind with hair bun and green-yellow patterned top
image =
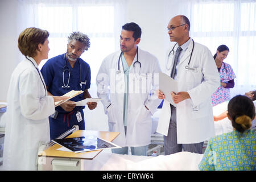
<path fill-rule="evenodd" d="M 234 131 L 210 138 L 199 169 L 255 171 L 256 134 L 251 130 L 251 121 L 255 118 L 253 101 L 246 96 L 233 97 L 227 115 Z"/>

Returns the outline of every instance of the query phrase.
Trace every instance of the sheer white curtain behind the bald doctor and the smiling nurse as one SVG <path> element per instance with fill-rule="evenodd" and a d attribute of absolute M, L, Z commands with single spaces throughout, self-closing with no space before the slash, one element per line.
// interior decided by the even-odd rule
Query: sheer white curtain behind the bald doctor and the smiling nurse
<path fill-rule="evenodd" d="M 207 46 L 212 54 L 225 44 L 230 52 L 224 60 L 237 78 L 231 96 L 256 89 L 256 1 L 197 0 L 165 1 L 166 24 L 179 14 L 191 22 L 191 37 Z M 165 46 L 170 46 L 167 41 Z"/>

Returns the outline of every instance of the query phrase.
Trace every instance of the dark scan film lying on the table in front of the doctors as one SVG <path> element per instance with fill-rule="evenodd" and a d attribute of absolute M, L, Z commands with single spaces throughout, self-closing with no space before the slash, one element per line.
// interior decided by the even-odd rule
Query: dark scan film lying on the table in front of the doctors
<path fill-rule="evenodd" d="M 76 138 L 63 138 L 53 139 L 52 142 L 65 147 L 67 150 L 75 153 L 88 152 L 94 150 L 102 150 L 109 148 L 121 148 L 112 142 L 108 142 L 104 139 L 98 138 L 95 135 L 88 135 L 86 137 Z"/>

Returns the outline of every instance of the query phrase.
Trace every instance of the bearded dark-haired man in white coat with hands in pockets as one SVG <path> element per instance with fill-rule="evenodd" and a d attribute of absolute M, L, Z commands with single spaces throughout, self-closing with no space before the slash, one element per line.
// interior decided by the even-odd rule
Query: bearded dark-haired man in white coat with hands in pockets
<path fill-rule="evenodd" d="M 120 132 L 113 140 L 122 147 L 112 150 L 117 154 L 128 154 L 128 147 L 131 147 L 132 155 L 147 155 L 151 116 L 161 102 L 156 95 L 158 59 L 138 48 L 140 41 L 138 24 L 122 26 L 121 51 L 107 56 L 97 75 L 97 94 L 103 98 L 109 131 Z"/>

